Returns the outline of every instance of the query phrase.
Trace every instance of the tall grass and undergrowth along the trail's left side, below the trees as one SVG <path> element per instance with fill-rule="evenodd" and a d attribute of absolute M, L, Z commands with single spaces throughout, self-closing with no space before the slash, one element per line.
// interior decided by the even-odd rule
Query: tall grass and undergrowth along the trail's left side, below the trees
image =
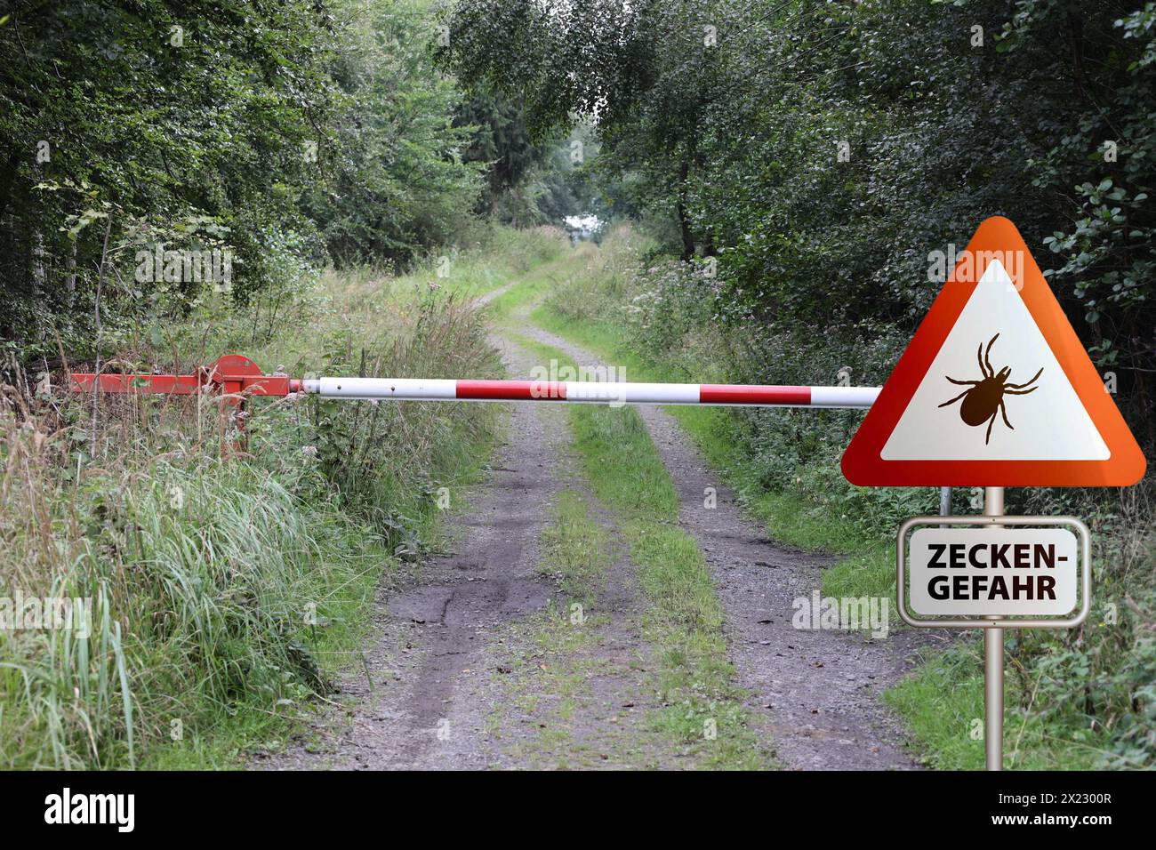
<path fill-rule="evenodd" d="M 497 230 L 402 278 L 327 273 L 267 325 L 212 301 L 157 313 L 102 369 L 239 349 L 297 375 L 496 376 L 469 300 L 563 245 Z M 457 507 L 496 414 L 252 400 L 249 453 L 222 459 L 235 435 L 212 398 L 96 400 L 9 374 L 0 597 L 87 604 L 80 628 L 0 629 L 6 768 L 228 767 L 276 740 L 357 658 L 383 578 L 436 544 L 440 496 Z"/>

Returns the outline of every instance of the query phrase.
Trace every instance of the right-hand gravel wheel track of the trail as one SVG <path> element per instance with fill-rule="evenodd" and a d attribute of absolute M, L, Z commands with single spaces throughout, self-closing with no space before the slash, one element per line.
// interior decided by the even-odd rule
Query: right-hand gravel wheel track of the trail
<path fill-rule="evenodd" d="M 576 363 L 603 365 L 572 343 L 527 326 L 526 335 Z M 639 408 L 679 490 L 680 520 L 706 555 L 727 616 L 731 657 L 748 707 L 766 718 L 775 749 L 795 769 L 911 769 L 898 722 L 880 694 L 912 666 L 911 633 L 869 640 L 859 633 L 799 630 L 793 601 L 820 589 L 827 556 L 784 547 L 739 508 L 734 494 L 665 412 Z M 717 507 L 704 507 L 707 487 Z"/>

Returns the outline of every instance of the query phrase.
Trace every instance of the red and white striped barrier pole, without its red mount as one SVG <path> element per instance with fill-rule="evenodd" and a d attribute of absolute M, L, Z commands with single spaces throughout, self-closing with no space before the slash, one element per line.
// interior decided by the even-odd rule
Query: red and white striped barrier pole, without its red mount
<path fill-rule="evenodd" d="M 651 384 L 625 380 L 453 380 L 305 378 L 295 390 L 327 399 L 395 401 L 570 401 L 610 405 L 866 408 L 877 386 Z"/>

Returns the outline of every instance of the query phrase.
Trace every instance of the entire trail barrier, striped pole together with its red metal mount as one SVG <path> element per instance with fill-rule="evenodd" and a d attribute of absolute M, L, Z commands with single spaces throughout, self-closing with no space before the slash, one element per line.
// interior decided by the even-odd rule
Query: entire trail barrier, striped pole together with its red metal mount
<path fill-rule="evenodd" d="M 193 375 L 101 375 L 74 372 L 75 392 L 220 392 L 223 421 L 239 438 L 222 435 L 225 453 L 245 449 L 245 399 L 305 392 L 327 399 L 397 401 L 562 401 L 610 405 L 725 405 L 741 407 L 866 408 L 877 386 L 783 386 L 657 384 L 618 380 L 455 380 L 452 378 L 290 378 L 264 375 L 249 357 L 227 354 Z"/>

